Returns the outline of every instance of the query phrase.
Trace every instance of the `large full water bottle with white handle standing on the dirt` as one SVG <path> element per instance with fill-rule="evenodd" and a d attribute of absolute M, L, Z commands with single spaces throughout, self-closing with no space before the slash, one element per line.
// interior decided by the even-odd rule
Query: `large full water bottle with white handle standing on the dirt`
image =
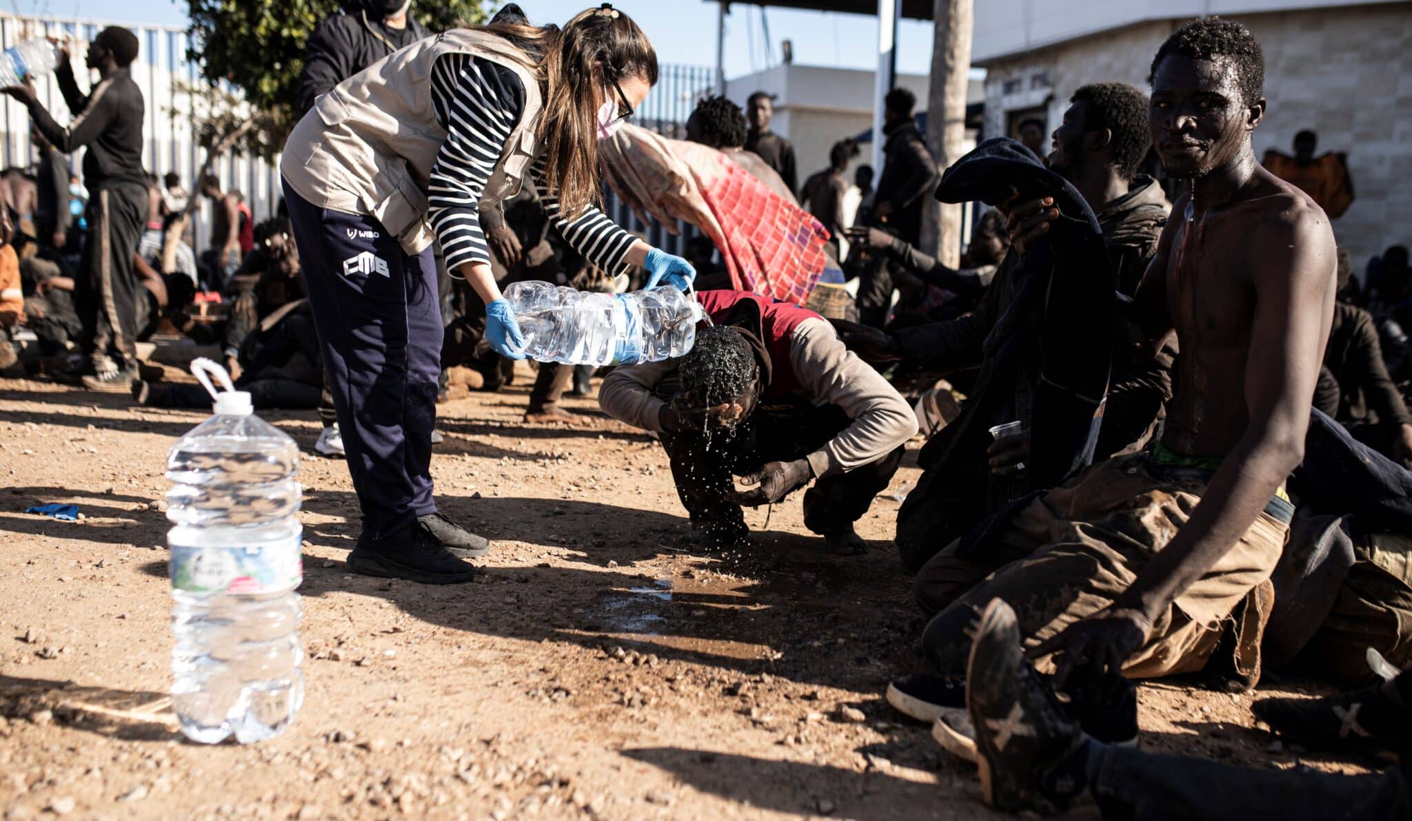
<path fill-rule="evenodd" d="M 167 457 L 172 710 L 193 741 L 251 743 L 284 732 L 304 701 L 299 449 L 225 368 L 191 370 L 216 402 Z"/>

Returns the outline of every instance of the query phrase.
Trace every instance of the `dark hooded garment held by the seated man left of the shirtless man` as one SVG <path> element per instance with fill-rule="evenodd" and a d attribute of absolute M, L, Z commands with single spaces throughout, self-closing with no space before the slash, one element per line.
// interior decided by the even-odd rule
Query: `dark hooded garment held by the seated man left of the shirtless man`
<path fill-rule="evenodd" d="M 1004 138 L 981 142 L 949 168 L 936 196 L 995 203 L 1012 188 L 1021 199 L 1053 196 L 1060 216 L 1046 238 L 1005 257 L 973 313 L 898 332 L 908 360 L 915 355 L 940 370 L 981 368 L 962 416 L 923 447 L 925 473 L 898 513 L 898 549 L 914 568 L 987 512 L 1056 487 L 1087 466 L 1097 447 L 1118 302 L 1099 217 L 1067 181 Z M 1161 221 L 1147 206 L 1149 188 L 1156 186 L 1142 186 L 1111 203 L 1111 212 L 1104 209 L 1115 229 L 1134 223 L 1132 237 L 1115 248 L 1121 258 L 1131 255 L 1138 221 L 1156 245 Z M 988 429 L 1012 420 L 1024 422 L 1031 434 L 1021 482 L 997 480 L 986 467 Z"/>

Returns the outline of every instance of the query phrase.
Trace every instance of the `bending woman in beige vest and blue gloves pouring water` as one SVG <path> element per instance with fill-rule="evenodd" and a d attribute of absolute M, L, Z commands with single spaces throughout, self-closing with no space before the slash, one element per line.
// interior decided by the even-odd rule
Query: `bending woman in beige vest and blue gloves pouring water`
<path fill-rule="evenodd" d="M 489 543 L 436 512 L 431 434 L 442 320 L 432 243 L 486 302 L 486 339 L 524 358 L 490 272 L 477 203 L 534 185 L 559 231 L 610 272 L 682 289 L 695 269 L 594 206 L 596 144 L 657 82 L 657 54 L 604 3 L 562 30 L 515 23 L 415 42 L 318 99 L 280 171 L 323 347 L 363 535 L 349 567 L 469 581 Z"/>

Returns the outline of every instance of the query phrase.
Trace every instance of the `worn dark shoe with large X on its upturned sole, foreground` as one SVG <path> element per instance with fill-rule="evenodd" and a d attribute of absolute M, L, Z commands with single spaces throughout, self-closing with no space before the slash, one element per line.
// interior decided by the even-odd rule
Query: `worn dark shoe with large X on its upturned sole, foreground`
<path fill-rule="evenodd" d="M 1008 813 L 1062 813 L 1075 796 L 1046 789 L 1045 776 L 1087 742 L 1025 657 L 1015 611 L 998 598 L 986 607 L 971 643 L 966 703 L 986 803 Z"/>

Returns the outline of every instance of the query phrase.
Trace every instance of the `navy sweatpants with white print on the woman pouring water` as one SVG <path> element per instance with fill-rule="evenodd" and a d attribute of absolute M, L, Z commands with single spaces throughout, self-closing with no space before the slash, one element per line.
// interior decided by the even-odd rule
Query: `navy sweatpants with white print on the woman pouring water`
<path fill-rule="evenodd" d="M 381 539 L 436 512 L 432 427 L 442 317 L 432 248 L 412 257 L 370 216 L 284 186 L 363 530 Z"/>

